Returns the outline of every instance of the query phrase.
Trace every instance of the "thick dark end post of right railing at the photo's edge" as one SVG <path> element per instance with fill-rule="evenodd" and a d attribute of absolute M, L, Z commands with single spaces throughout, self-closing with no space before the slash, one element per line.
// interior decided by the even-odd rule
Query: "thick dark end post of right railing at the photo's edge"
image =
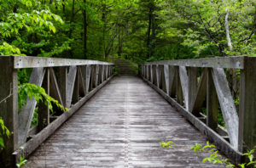
<path fill-rule="evenodd" d="M 256 58 L 244 57 L 240 78 L 239 136 L 241 152 L 256 145 Z"/>

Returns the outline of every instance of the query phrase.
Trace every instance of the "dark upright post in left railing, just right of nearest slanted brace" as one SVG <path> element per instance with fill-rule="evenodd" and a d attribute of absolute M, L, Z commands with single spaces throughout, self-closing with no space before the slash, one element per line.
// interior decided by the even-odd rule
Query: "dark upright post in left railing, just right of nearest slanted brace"
<path fill-rule="evenodd" d="M 49 95 L 49 84 L 50 84 L 50 71 L 49 68 L 46 68 L 44 81 L 42 87 L 45 92 Z M 45 99 L 43 100 L 45 101 Z M 38 103 L 38 132 L 43 130 L 46 126 L 49 125 L 49 104 L 45 105 L 44 102 L 40 101 Z M 28 137 L 28 135 L 27 135 Z"/>

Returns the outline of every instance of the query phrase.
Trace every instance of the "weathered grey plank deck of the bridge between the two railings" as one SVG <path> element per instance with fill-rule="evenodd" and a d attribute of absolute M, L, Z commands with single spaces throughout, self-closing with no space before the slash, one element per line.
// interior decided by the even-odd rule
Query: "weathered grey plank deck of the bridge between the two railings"
<path fill-rule="evenodd" d="M 161 141 L 174 148 L 161 148 Z M 27 167 L 222 167 L 194 154 L 206 137 L 134 76 L 115 77 L 28 159 Z M 224 167 L 224 166 L 223 166 Z"/>

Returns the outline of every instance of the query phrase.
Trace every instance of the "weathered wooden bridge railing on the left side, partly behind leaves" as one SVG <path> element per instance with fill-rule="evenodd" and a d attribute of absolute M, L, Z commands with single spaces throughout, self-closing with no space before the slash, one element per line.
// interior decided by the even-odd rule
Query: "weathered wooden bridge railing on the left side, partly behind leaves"
<path fill-rule="evenodd" d="M 11 132 L 0 151 L 1 167 L 15 166 L 20 156 L 31 154 L 113 76 L 113 64 L 94 60 L 1 56 L 0 67 L 0 117 Z M 28 98 L 18 113 L 19 69 L 32 71 L 29 82 L 69 110 L 54 106 L 50 113 L 47 105 Z M 31 127 L 35 109 L 38 125 Z"/>

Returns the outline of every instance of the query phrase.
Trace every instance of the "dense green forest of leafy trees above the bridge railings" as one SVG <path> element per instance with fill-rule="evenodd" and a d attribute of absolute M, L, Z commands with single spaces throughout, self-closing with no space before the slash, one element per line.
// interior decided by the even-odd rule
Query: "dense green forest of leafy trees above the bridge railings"
<path fill-rule="evenodd" d="M 1 0 L 0 55 L 134 62 L 256 53 L 255 0 Z"/>

